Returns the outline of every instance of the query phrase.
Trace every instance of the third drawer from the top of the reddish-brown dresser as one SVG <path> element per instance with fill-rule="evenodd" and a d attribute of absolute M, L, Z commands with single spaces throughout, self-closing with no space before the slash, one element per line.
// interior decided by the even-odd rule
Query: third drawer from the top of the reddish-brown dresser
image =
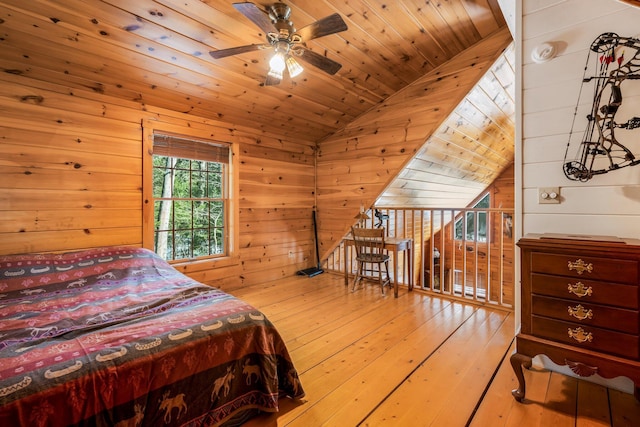
<path fill-rule="evenodd" d="M 587 304 L 558 298 L 533 295 L 531 298 L 533 315 L 551 317 L 580 325 L 596 326 L 638 334 L 638 312 L 603 305 Z"/>

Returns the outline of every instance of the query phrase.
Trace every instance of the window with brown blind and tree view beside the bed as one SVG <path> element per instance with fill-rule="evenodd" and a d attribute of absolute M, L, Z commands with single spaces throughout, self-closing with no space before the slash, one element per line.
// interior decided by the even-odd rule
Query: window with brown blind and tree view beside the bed
<path fill-rule="evenodd" d="M 159 132 L 152 139 L 154 251 L 169 261 L 228 256 L 230 145 Z"/>

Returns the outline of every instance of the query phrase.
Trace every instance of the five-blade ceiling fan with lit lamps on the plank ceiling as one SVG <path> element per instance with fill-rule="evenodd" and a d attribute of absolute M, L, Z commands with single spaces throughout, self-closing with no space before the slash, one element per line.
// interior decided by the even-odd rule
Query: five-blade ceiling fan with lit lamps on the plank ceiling
<path fill-rule="evenodd" d="M 303 68 L 296 61 L 296 58 L 300 58 L 328 74 L 335 74 L 342 67 L 336 61 L 315 53 L 305 46 L 309 40 L 345 31 L 347 24 L 339 14 L 334 13 L 296 30 L 293 22 L 289 20 L 291 8 L 284 3 L 274 3 L 267 10 L 260 9 L 251 2 L 234 3 L 233 7 L 264 31 L 267 42 L 209 52 L 214 59 L 273 48 L 275 53 L 269 61 L 270 69 L 266 85 L 280 83 L 285 68 L 290 77 L 300 74 Z"/>

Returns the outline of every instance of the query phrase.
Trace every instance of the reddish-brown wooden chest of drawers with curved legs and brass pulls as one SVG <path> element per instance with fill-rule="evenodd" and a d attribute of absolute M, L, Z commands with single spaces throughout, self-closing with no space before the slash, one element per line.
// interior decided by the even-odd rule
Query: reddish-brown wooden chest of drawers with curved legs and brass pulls
<path fill-rule="evenodd" d="M 521 328 L 511 365 L 544 354 L 579 376 L 625 376 L 640 400 L 640 241 L 589 236 L 520 239 Z"/>

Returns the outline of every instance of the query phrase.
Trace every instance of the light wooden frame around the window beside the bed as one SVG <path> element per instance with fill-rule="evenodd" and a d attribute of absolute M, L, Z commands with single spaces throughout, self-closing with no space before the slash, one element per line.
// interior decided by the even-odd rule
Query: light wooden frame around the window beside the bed
<path fill-rule="evenodd" d="M 154 197 L 153 197 L 153 141 L 156 134 L 165 134 L 185 139 L 201 140 L 214 144 L 229 144 L 229 163 L 228 163 L 228 195 L 227 207 L 225 214 L 227 215 L 225 224 L 225 238 L 227 240 L 226 255 L 201 256 L 195 259 L 179 259 L 169 260 L 168 262 L 174 266 L 198 264 L 203 262 L 215 263 L 216 266 L 234 265 L 239 262 L 238 257 L 238 159 L 236 153 L 237 143 L 229 141 L 220 141 L 211 137 L 211 132 L 204 129 L 194 127 L 183 127 L 168 123 L 159 123 L 154 120 L 143 121 L 143 161 L 142 161 L 142 246 L 154 250 L 155 248 L 155 216 L 154 216 Z"/>

